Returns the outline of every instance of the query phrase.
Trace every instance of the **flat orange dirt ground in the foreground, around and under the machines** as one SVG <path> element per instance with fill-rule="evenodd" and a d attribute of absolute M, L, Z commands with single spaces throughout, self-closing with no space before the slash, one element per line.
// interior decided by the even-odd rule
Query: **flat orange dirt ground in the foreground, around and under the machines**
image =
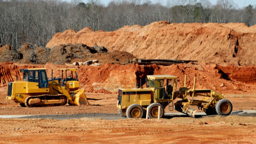
<path fill-rule="evenodd" d="M 0 93 L 0 115 L 38 115 L 36 118 L 0 118 L 0 143 L 256 142 L 254 114 L 128 119 L 117 114 L 117 94 L 86 93 L 90 106 L 29 108 L 5 100 L 6 87 L 1 87 Z M 226 95 L 233 103 L 233 111 L 255 110 L 255 97 L 256 92 Z M 165 108 L 165 113 L 170 112 L 175 113 Z M 49 118 L 49 115 L 63 116 L 63 120 Z"/>

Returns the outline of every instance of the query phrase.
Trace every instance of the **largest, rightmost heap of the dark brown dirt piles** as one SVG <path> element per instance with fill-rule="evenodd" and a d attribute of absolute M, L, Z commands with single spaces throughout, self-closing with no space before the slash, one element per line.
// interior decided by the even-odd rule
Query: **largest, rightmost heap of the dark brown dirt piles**
<path fill-rule="evenodd" d="M 100 63 L 125 63 L 127 59 L 135 58 L 127 52 L 109 52 L 103 46 L 89 47 L 85 44 L 63 44 L 51 49 L 48 62 L 56 65 L 97 59 Z"/>

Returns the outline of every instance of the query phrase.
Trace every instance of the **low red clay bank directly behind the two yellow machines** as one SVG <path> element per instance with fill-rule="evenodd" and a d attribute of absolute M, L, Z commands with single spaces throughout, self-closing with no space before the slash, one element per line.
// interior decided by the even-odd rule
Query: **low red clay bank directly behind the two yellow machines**
<path fill-rule="evenodd" d="M 145 87 L 145 77 L 147 75 L 170 74 L 179 77 L 178 88 L 184 85 L 184 77 L 188 75 L 187 85 L 192 88 L 194 77 L 197 77 L 196 89 L 213 89 L 222 93 L 242 93 L 245 91 L 255 91 L 256 89 L 256 67 L 241 66 L 218 66 L 218 65 L 189 65 L 179 64 L 171 66 L 139 66 L 139 65 L 104 65 L 94 66 L 63 66 L 47 63 L 46 65 L 21 65 L 18 63 L 0 63 L 1 85 L 22 78 L 19 73 L 21 68 L 46 68 L 47 76 L 51 78 L 60 77 L 57 68 L 77 68 L 77 74 L 81 89 L 87 92 L 117 92 L 119 87 L 135 87 L 140 83 Z M 244 73 L 244 69 L 247 73 Z M 236 71 L 230 73 L 230 71 Z M 253 77 L 253 78 L 252 78 Z M 108 92 L 107 92 L 108 91 Z"/>

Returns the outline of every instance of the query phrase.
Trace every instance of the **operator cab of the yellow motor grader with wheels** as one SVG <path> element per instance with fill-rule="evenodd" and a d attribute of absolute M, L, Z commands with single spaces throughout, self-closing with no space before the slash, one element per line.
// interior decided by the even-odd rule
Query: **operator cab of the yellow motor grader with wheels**
<path fill-rule="evenodd" d="M 173 99 L 177 76 L 148 75 L 146 86 L 154 89 L 154 100 Z"/>

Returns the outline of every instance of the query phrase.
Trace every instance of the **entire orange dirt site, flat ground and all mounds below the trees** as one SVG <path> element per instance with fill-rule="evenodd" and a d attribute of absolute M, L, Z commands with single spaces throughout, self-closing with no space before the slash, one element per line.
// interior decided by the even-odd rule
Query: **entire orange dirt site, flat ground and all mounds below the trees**
<path fill-rule="evenodd" d="M 66 30 L 46 47 L 0 46 L 0 116 L 28 116 L 0 118 L 0 143 L 256 143 L 256 113 L 129 119 L 116 108 L 119 87 L 134 87 L 140 79 L 145 87 L 147 75 L 170 74 L 178 77 L 178 89 L 185 75 L 190 89 L 196 77 L 196 89 L 224 94 L 233 111 L 256 110 L 255 34 L 256 25 L 244 23 L 158 21 L 115 31 Z M 124 65 L 134 58 L 197 62 Z M 102 65 L 70 66 L 95 59 Z M 21 81 L 23 68 L 46 68 L 48 78 L 51 69 L 60 77 L 57 68 L 76 68 L 91 105 L 29 108 L 6 100 L 7 84 Z M 166 107 L 165 113 L 178 112 Z"/>

